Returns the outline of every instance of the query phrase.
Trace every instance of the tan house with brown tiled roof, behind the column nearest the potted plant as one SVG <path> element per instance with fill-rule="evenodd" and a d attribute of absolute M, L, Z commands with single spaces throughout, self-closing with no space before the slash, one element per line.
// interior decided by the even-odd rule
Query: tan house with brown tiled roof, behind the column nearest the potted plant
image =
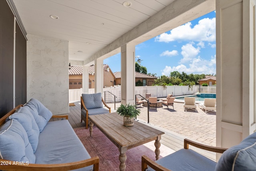
<path fill-rule="evenodd" d="M 121 72 L 114 72 L 114 76 L 116 77 L 115 79 L 115 85 L 121 85 Z M 143 74 L 140 72 L 135 72 L 135 82 L 140 82 L 143 83 L 143 86 L 150 86 L 154 83 L 154 80 L 157 79 L 155 76 L 150 76 L 148 74 Z"/>

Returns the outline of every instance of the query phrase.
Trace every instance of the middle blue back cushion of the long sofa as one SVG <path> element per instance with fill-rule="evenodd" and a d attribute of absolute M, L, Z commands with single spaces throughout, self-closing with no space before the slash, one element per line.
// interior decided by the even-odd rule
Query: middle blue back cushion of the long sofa
<path fill-rule="evenodd" d="M 19 113 L 18 111 L 19 109 L 17 110 L 17 112 L 10 115 L 6 119 L 6 121 L 11 119 L 16 119 L 24 127 L 28 135 L 28 140 L 33 148 L 33 152 L 35 152 L 38 145 L 38 137 L 39 137 L 38 125 L 36 124 L 36 121 L 30 112 Z"/>

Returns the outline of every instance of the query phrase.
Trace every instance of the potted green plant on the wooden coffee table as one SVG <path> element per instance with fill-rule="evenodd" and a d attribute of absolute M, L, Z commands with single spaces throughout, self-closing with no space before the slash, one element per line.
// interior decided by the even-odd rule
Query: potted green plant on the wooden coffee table
<path fill-rule="evenodd" d="M 124 126 L 134 125 L 134 118 L 140 114 L 140 109 L 136 109 L 136 105 L 121 104 L 117 108 L 116 113 L 124 117 Z"/>

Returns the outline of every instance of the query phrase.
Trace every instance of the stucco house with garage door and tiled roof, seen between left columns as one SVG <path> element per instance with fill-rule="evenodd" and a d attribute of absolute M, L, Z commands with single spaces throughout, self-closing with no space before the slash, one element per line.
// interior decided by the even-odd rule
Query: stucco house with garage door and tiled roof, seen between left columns
<path fill-rule="evenodd" d="M 114 74 L 109 68 L 108 65 L 103 64 L 103 87 L 110 87 L 114 86 Z M 89 88 L 94 88 L 94 78 L 95 78 L 95 66 L 89 66 Z M 82 88 L 82 74 L 83 74 L 83 67 L 82 66 L 72 66 L 70 70 L 68 70 L 68 79 L 69 79 L 69 89 L 79 89 Z"/>

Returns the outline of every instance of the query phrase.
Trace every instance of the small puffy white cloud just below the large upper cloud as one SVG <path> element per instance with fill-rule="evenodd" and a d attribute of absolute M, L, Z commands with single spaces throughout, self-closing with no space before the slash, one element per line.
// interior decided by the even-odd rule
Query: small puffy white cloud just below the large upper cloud
<path fill-rule="evenodd" d="M 193 42 L 185 44 L 181 47 L 181 54 L 183 56 L 183 58 L 180 60 L 181 64 L 193 60 L 193 58 L 195 58 L 200 53 L 200 47 L 195 48 L 192 44 Z"/>

